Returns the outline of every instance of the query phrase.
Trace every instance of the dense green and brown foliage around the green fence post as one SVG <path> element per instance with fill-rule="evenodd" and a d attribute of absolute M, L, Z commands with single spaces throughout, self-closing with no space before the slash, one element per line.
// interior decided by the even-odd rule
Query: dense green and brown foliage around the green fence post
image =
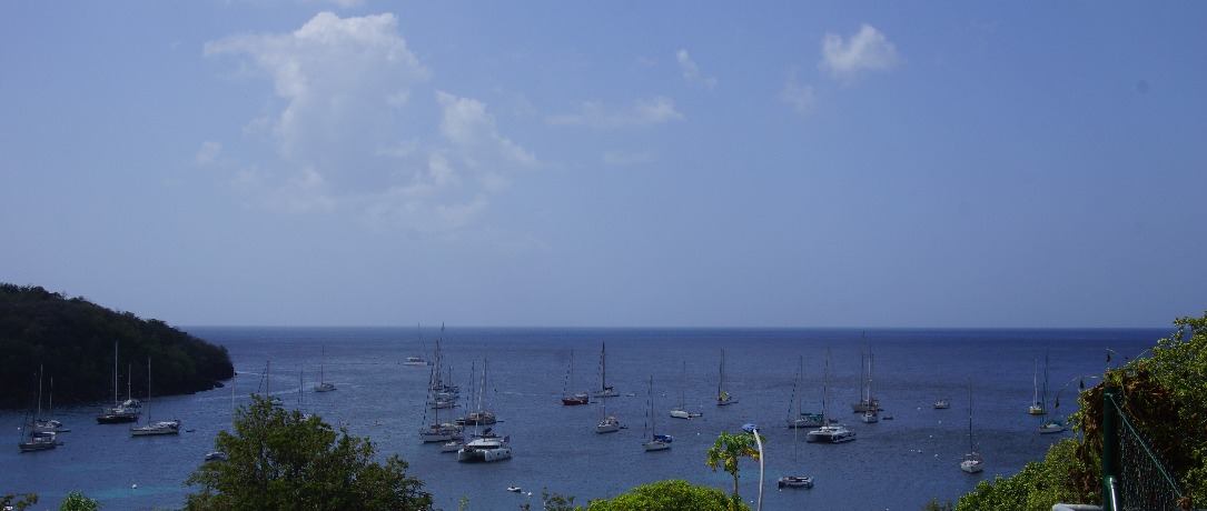
<path fill-rule="evenodd" d="M 1173 324 L 1173 335 L 1159 340 L 1149 356 L 1108 369 L 1098 384 L 1078 397 L 1080 407 L 1069 417 L 1077 439 L 1061 441 L 1042 462 L 1027 464 L 1009 478 L 982 481 L 956 509 L 1049 510 L 1057 503 L 1100 503 L 1102 399 L 1108 387 L 1115 389 L 1127 421 L 1178 481 L 1184 494 L 1179 505 L 1202 505 L 1207 500 L 1207 313 Z"/>

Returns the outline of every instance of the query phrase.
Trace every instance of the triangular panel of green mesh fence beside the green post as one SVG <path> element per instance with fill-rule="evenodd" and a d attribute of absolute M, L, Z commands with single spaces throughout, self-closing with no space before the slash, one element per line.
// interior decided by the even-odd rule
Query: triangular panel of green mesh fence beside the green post
<path fill-rule="evenodd" d="M 1114 399 L 1107 399 L 1118 413 L 1123 427 L 1119 428 L 1119 474 L 1116 491 L 1119 501 L 1116 511 L 1158 511 L 1180 510 L 1182 491 L 1165 465 L 1132 425 L 1131 421 Z"/>

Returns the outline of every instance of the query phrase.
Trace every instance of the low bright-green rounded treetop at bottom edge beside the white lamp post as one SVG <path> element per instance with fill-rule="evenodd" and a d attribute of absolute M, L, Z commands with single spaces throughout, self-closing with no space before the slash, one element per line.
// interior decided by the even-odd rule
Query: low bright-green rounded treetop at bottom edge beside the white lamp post
<path fill-rule="evenodd" d="M 730 506 L 734 507 L 730 507 Z M 682 480 L 642 484 L 611 500 L 593 500 L 588 511 L 750 511 L 742 503 L 731 503 L 725 492 L 695 486 Z"/>

